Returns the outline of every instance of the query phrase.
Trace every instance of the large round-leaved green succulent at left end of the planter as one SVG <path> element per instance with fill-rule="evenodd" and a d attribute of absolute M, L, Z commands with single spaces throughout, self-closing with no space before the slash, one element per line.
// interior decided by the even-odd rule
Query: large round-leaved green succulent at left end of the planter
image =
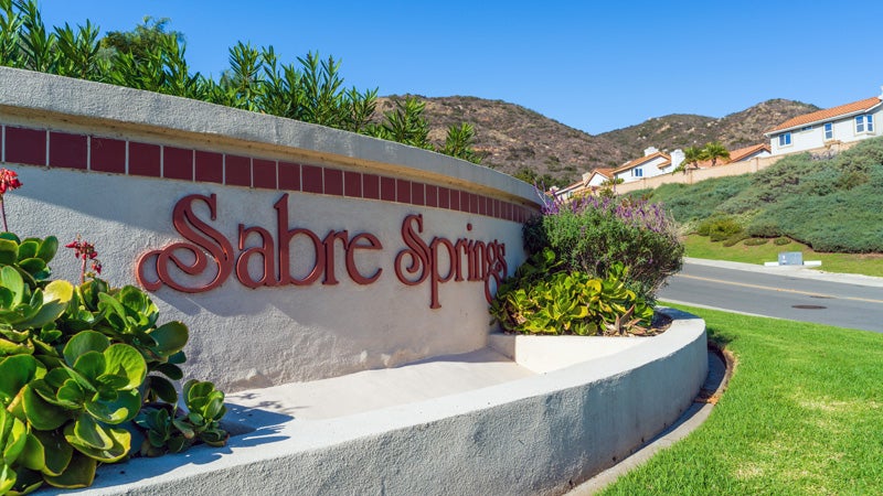
<path fill-rule="evenodd" d="M 224 393 L 211 382 L 184 385 L 188 411 L 175 408 L 187 326 L 158 325 L 137 288 L 51 281 L 57 247 L 54 237 L 0 234 L 0 493 L 89 486 L 98 464 L 129 455 L 132 421 L 153 409 L 168 414 L 146 428 L 145 444 L 156 446 L 146 454 L 224 444 Z M 68 247 L 85 273 L 94 247 Z M 155 435 L 160 429 L 169 435 Z"/>

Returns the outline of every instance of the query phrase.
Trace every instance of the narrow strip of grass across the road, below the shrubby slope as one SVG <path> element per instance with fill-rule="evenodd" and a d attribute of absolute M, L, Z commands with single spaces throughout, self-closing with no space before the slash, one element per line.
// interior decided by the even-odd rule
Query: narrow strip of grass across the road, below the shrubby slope
<path fill-rule="evenodd" d="M 776 246 L 772 240 L 760 246 L 745 246 L 737 242 L 727 248 L 721 242 L 711 242 L 708 237 L 699 235 L 687 236 L 684 245 L 688 257 L 758 265 L 776 261 L 780 251 L 802 251 L 804 260 L 821 260 L 820 269 L 826 272 L 883 277 L 883 254 L 823 254 L 797 241 Z"/>

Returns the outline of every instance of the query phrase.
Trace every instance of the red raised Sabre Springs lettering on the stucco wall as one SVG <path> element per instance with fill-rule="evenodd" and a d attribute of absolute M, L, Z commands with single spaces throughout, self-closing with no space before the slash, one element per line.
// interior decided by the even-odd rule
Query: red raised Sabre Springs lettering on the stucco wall
<path fill-rule="evenodd" d="M 273 205 L 276 211 L 276 236 L 264 227 L 240 224 L 235 248 L 226 236 L 196 215 L 193 208 L 200 202 L 209 207 L 210 220 L 215 220 L 217 198 L 214 194 L 184 196 L 174 205 L 172 225 L 187 241 L 148 251 L 138 259 L 136 277 L 148 291 L 157 291 L 166 285 L 185 293 L 202 293 L 220 287 L 234 273 L 240 283 L 253 289 L 304 287 L 319 280 L 321 284 L 334 285 L 340 282 L 339 265 L 357 284 L 373 284 L 383 273 L 381 267 L 365 267 L 358 261 L 362 251 L 383 250 L 381 240 L 371 233 L 351 235 L 345 229 L 332 229 L 322 237 L 304 227 L 289 227 L 287 193 Z M 467 225 L 467 230 L 472 230 L 471 224 Z M 449 281 L 483 281 L 485 298 L 490 303 L 492 288 L 500 284 L 508 271 L 506 244 L 496 239 L 485 242 L 468 238 L 450 240 L 438 236 L 427 242 L 421 236 L 423 231 L 423 215 L 412 214 L 402 222 L 402 242 L 405 248 L 396 254 L 394 260 L 398 281 L 406 285 L 418 285 L 428 280 L 430 309 L 442 308 L 438 301 L 440 284 Z M 306 256 L 310 260 L 306 273 L 299 276 L 291 274 L 291 265 L 296 261 L 291 247 L 296 238 L 301 240 L 301 245 L 306 241 Z M 255 245 L 255 241 L 256 246 L 246 248 L 247 245 Z M 252 261 L 255 257 L 257 263 Z M 209 282 L 182 281 L 187 278 L 205 281 L 212 274 L 214 277 Z"/>

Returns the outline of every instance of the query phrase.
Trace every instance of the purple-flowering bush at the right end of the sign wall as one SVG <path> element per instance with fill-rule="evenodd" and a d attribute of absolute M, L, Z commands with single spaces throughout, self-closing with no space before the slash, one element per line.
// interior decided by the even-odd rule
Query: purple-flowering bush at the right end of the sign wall
<path fill-rule="evenodd" d="M 563 270 L 592 277 L 604 277 L 620 262 L 628 269 L 628 287 L 648 300 L 681 269 L 683 245 L 661 205 L 596 196 L 564 203 L 541 196 L 543 215 L 524 225 L 529 252 L 549 247 L 564 261 Z"/>

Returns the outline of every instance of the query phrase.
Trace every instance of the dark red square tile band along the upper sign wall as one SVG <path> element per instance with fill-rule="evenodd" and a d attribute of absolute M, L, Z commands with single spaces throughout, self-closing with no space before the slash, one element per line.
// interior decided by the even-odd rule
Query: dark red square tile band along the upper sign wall
<path fill-rule="evenodd" d="M 128 147 L 132 175 L 409 203 L 518 223 L 536 215 L 523 205 L 489 196 L 354 171 L 61 131 L 10 126 L 4 131 L 0 147 L 8 163 L 121 174 L 126 173 Z"/>

